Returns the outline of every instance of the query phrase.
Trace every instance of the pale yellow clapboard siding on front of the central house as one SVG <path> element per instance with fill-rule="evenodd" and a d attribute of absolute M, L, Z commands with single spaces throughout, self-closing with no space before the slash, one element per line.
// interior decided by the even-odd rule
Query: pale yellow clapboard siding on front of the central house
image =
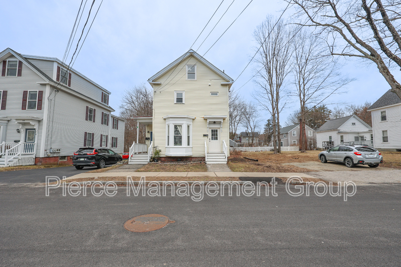
<path fill-rule="evenodd" d="M 185 79 L 185 64 L 188 60 L 188 65 L 196 64 L 196 81 L 187 81 Z M 223 120 L 223 131 L 220 132 L 220 135 L 221 140 L 225 140 L 226 144 L 229 145 L 228 86 L 221 85 L 221 83 L 227 81 L 194 58 L 185 59 L 177 66 L 174 74 L 170 75 L 173 69 L 157 80 L 157 82 L 161 82 L 161 85 L 154 85 L 154 91 L 156 91 L 165 85 L 167 81 L 169 83 L 166 87 L 157 91 L 153 99 L 153 136 L 155 145 L 161 149 L 161 155 L 165 155 L 165 146 L 167 144 L 166 121 L 163 119 L 167 115 L 195 117 L 191 126 L 192 141 L 190 143 L 193 157 L 205 157 L 205 141 L 209 141 L 209 138 L 203 136 L 208 134 L 207 120 L 203 118 L 204 116 L 227 116 L 227 119 Z M 177 75 L 175 76 L 175 74 Z M 169 77 L 168 80 L 167 77 Z M 171 84 L 174 84 L 174 86 L 169 87 Z M 174 104 L 174 91 L 185 91 L 185 105 Z M 219 92 L 219 97 L 210 97 L 211 91 Z"/>

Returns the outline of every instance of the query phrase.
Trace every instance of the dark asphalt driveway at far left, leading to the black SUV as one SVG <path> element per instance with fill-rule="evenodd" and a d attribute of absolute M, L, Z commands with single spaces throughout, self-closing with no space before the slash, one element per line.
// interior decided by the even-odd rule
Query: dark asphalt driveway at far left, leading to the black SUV
<path fill-rule="evenodd" d="M 77 170 L 74 166 L 20 170 L 20 171 L 3 171 L 0 172 L 0 184 L 18 184 L 18 183 L 44 183 L 46 176 L 58 176 L 63 179 L 63 176 L 69 177 L 78 173 L 87 172 L 93 168 L 84 168 Z"/>

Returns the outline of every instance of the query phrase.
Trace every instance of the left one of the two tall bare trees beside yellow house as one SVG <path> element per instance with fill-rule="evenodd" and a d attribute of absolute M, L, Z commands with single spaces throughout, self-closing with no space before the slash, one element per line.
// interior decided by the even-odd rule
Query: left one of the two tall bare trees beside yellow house
<path fill-rule="evenodd" d="M 286 93 L 284 82 L 291 71 L 292 32 L 282 21 L 277 22 L 272 16 L 254 31 L 254 38 L 261 49 L 254 58 L 258 68 L 263 69 L 256 75 L 258 90 L 254 97 L 272 116 L 274 153 L 280 153 L 280 112 L 285 107 Z M 277 129 L 277 133 L 276 133 Z"/>

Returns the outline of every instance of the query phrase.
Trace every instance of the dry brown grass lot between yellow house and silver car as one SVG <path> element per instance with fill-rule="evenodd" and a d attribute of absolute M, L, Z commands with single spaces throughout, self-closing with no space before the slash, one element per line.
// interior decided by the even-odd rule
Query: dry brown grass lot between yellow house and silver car
<path fill-rule="evenodd" d="M 274 154 L 273 152 L 236 151 L 236 153 L 230 154 L 227 164 L 232 171 L 236 172 L 308 172 L 313 170 L 292 165 L 282 165 L 281 163 L 319 161 L 317 157 L 319 152 L 307 151 L 306 153 L 300 153 L 298 151 L 289 151 Z M 244 157 L 257 159 L 258 161 L 248 160 Z"/>

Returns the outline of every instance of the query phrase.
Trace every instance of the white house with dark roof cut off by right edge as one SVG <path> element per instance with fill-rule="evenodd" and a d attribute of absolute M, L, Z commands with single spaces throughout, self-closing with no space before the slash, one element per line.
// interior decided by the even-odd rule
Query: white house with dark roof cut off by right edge
<path fill-rule="evenodd" d="M 372 115 L 374 147 L 401 150 L 401 99 L 388 90 L 368 111 Z"/>

